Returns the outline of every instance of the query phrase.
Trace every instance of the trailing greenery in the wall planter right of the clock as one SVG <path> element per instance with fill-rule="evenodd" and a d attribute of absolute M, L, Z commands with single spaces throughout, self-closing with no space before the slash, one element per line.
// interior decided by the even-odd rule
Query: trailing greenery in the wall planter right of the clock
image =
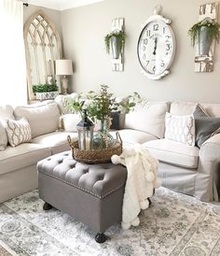
<path fill-rule="evenodd" d="M 205 18 L 202 21 L 194 24 L 188 31 L 188 35 L 191 37 L 191 44 L 194 47 L 196 43 L 199 42 L 199 34 L 201 28 L 207 28 L 207 43 L 212 43 L 213 39 L 219 43 L 220 39 L 220 24 L 213 21 L 211 18 Z"/>

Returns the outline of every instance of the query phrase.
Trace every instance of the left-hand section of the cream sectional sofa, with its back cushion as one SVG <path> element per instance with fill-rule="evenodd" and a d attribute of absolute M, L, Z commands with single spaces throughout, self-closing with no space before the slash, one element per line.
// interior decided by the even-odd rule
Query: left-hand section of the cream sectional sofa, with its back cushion
<path fill-rule="evenodd" d="M 37 188 L 36 163 L 52 154 L 70 149 L 66 137 L 76 133 L 59 132 L 60 109 L 47 101 L 23 107 L 1 106 L 0 120 L 25 117 L 31 126 L 31 143 L 7 146 L 0 151 L 0 202 Z"/>

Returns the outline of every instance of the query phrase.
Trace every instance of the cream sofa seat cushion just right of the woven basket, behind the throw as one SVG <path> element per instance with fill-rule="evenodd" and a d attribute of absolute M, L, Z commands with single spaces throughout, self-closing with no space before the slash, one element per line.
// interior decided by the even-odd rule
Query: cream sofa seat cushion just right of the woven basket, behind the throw
<path fill-rule="evenodd" d="M 119 135 L 123 141 L 123 143 L 126 144 L 134 144 L 134 143 L 140 143 L 143 144 L 146 141 L 153 140 L 153 139 L 158 139 L 154 135 L 149 135 L 147 133 L 137 131 L 137 130 L 132 130 L 132 129 L 122 129 L 119 130 Z M 111 132 L 111 135 L 116 137 L 116 132 Z"/>

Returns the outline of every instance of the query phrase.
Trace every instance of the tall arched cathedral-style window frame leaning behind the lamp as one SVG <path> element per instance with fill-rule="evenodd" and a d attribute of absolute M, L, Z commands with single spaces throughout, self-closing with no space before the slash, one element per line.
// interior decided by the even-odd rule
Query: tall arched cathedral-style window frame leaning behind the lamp
<path fill-rule="evenodd" d="M 34 100 L 33 85 L 55 81 L 54 61 L 62 59 L 61 38 L 47 15 L 36 11 L 24 24 L 29 100 Z"/>

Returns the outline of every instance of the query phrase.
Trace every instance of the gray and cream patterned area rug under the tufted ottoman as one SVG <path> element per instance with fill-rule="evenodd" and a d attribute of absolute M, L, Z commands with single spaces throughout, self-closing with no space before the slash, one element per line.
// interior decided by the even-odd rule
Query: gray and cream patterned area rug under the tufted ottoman
<path fill-rule="evenodd" d="M 87 225 L 42 206 L 37 191 L 0 205 L 0 240 L 17 255 L 220 255 L 220 206 L 164 188 L 141 212 L 140 226 L 112 226 L 103 244 Z"/>

